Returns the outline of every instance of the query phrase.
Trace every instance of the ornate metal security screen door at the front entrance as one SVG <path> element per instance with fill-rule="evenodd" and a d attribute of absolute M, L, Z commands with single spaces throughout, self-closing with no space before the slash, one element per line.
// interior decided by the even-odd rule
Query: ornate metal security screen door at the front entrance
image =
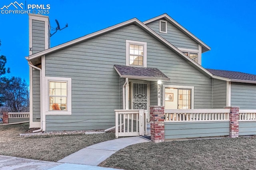
<path fill-rule="evenodd" d="M 132 83 L 132 109 L 148 110 L 148 84 Z"/>

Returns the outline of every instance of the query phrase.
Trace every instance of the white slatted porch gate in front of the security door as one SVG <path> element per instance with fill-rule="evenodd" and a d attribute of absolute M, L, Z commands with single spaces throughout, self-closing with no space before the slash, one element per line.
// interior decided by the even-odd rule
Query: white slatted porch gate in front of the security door
<path fill-rule="evenodd" d="M 118 136 L 139 136 L 145 134 L 144 110 L 115 110 L 116 138 Z"/>

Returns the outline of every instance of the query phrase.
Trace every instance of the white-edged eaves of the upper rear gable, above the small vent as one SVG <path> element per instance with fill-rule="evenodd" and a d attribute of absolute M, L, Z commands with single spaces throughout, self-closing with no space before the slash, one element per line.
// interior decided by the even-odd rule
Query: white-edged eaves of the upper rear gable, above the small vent
<path fill-rule="evenodd" d="M 155 18 L 152 18 L 150 20 L 146 20 L 143 22 L 143 24 L 148 24 L 150 22 L 154 22 L 156 20 L 160 20 L 160 19 L 164 19 L 166 21 L 168 21 L 170 24 L 172 24 L 173 26 L 175 26 L 178 30 L 180 30 L 183 34 L 185 34 L 186 36 L 188 36 L 189 38 L 191 38 L 194 42 L 200 44 L 202 46 L 202 52 L 208 51 L 211 48 L 206 45 L 204 42 L 202 42 L 199 38 L 197 38 L 196 36 L 194 36 L 191 32 L 189 32 L 186 28 L 184 28 L 183 26 L 181 26 L 178 22 L 176 22 L 174 19 L 172 19 L 170 16 L 168 16 L 167 14 L 162 14 L 160 16 L 157 16 Z"/>

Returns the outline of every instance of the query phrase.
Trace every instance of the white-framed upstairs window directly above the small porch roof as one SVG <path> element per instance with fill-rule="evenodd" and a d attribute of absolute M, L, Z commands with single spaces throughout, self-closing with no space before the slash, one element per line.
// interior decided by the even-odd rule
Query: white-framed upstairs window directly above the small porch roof
<path fill-rule="evenodd" d="M 126 65 L 147 67 L 147 43 L 126 40 Z"/>

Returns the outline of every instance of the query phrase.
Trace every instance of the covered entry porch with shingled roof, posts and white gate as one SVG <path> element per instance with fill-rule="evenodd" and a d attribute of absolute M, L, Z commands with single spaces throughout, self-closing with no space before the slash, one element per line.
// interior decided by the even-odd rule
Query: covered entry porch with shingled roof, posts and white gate
<path fill-rule="evenodd" d="M 156 68 L 114 65 L 120 75 L 121 109 L 115 110 L 116 137 L 147 135 L 151 104 L 161 105 L 161 84 L 170 81 Z"/>

